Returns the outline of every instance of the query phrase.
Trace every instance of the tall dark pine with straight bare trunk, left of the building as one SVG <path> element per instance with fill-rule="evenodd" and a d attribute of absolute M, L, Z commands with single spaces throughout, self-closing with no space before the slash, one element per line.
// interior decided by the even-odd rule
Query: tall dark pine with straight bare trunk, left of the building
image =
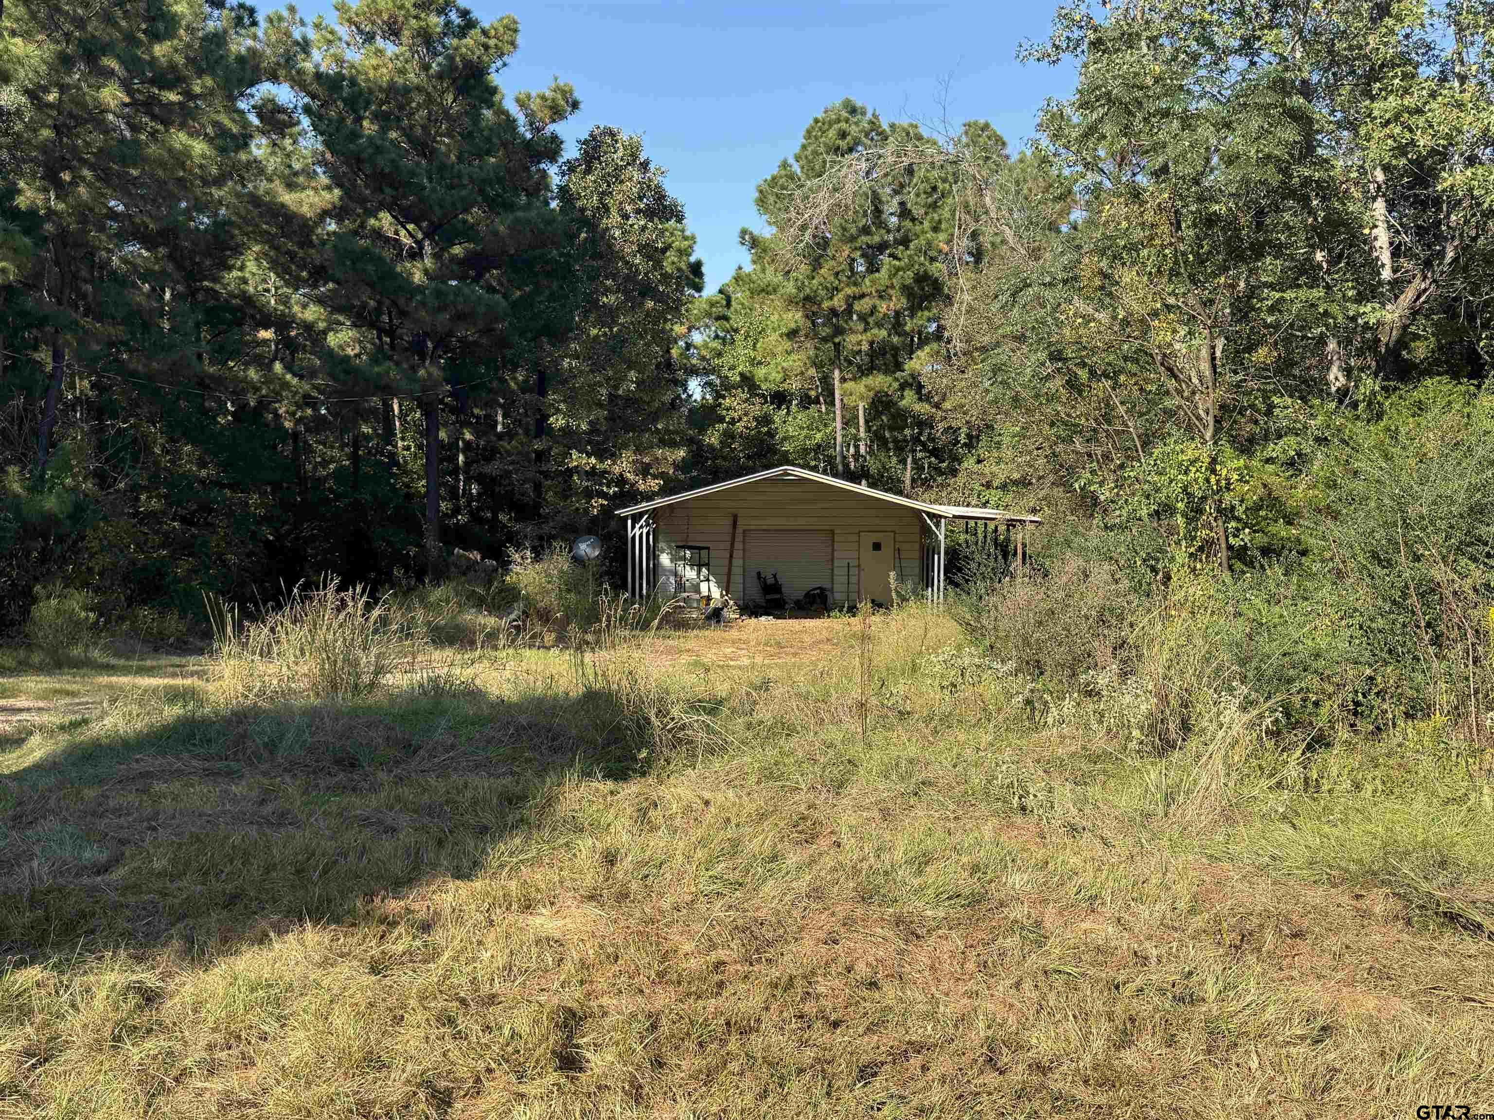
<path fill-rule="evenodd" d="M 336 205 L 318 239 L 324 297 L 375 330 L 388 393 L 418 396 L 424 429 L 426 570 L 444 569 L 441 403 L 496 382 L 563 333 L 563 220 L 548 205 L 553 127 L 571 87 L 518 94 L 495 75 L 518 45 L 512 16 L 480 22 L 444 0 L 338 3 L 312 34 L 276 21 L 285 82 L 318 145 Z"/>

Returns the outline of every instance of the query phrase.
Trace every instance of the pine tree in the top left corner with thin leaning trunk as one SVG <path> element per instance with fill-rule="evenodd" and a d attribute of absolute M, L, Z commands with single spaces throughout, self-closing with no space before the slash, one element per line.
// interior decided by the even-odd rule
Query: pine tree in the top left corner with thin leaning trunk
<path fill-rule="evenodd" d="M 221 188 L 248 145 L 238 99 L 257 81 L 252 30 L 239 7 L 199 0 L 6 9 L 0 118 L 13 143 L 15 206 L 39 221 L 19 282 L 46 317 L 37 487 L 67 370 L 79 360 L 96 367 L 120 346 L 160 346 L 173 327 L 179 336 L 173 290 L 220 263 L 209 249 Z"/>

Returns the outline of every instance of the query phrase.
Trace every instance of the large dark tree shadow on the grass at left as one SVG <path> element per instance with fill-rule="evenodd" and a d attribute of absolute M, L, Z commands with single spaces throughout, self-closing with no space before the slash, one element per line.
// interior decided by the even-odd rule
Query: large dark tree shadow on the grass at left
<path fill-rule="evenodd" d="M 0 959 L 200 956 L 348 918 L 366 896 L 475 874 L 563 774 L 622 780 L 659 757 L 647 736 L 607 691 L 115 708 L 0 775 Z"/>

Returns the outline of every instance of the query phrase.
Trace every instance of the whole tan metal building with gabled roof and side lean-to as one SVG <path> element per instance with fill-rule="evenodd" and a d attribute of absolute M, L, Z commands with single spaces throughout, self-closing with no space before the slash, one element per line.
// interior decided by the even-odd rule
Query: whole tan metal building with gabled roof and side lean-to
<path fill-rule="evenodd" d="M 627 518 L 627 590 L 760 603 L 757 573 L 789 600 L 826 587 L 835 603 L 890 600 L 890 579 L 943 596 L 943 535 L 952 518 L 1032 524 L 999 509 L 940 506 L 801 467 L 617 511 Z M 886 566 L 883 566 L 886 564 Z"/>

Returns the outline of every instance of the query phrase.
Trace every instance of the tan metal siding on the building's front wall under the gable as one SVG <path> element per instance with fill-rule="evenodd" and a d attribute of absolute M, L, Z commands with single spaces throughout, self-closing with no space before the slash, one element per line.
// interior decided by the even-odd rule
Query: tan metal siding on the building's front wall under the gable
<path fill-rule="evenodd" d="M 732 585 L 726 587 L 726 561 L 732 545 L 732 514 L 737 514 L 737 554 Z M 654 511 L 660 553 L 669 544 L 707 545 L 711 550 L 711 576 L 737 602 L 743 597 L 744 578 L 756 599 L 756 579 L 747 572 L 743 533 L 748 529 L 828 529 L 835 535 L 832 588 L 835 602 L 856 602 L 861 532 L 877 529 L 893 535 L 893 559 L 902 579 L 922 585 L 923 523 L 916 509 L 861 496 L 820 482 L 763 479 L 693 497 Z"/>

